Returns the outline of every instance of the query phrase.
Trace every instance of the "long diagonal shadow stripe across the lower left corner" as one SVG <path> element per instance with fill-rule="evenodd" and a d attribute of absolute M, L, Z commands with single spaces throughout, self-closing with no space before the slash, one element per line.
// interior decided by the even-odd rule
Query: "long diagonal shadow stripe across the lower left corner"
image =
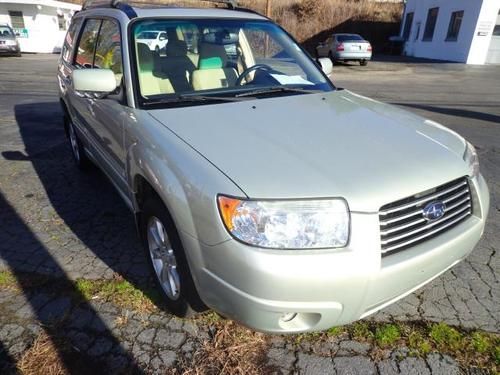
<path fill-rule="evenodd" d="M 84 374 L 95 372 L 100 368 L 102 370 L 106 367 L 97 365 L 98 360 L 92 360 L 85 354 L 81 354 L 79 350 L 69 350 L 68 342 L 71 338 L 67 336 L 70 332 L 70 327 L 81 326 L 82 317 L 78 314 L 79 311 L 85 311 L 91 317 L 92 327 L 99 327 L 99 337 L 109 343 L 111 353 L 119 357 L 122 363 L 127 364 L 127 371 L 132 374 L 141 374 L 142 370 L 139 369 L 135 360 L 132 358 L 121 345 L 118 338 L 116 338 L 106 323 L 97 314 L 94 307 L 86 300 L 82 292 L 77 288 L 75 282 L 70 280 L 66 275 L 62 266 L 50 254 L 47 248 L 41 243 L 38 237 L 31 231 L 24 220 L 19 217 L 16 210 L 0 193 L 0 257 L 6 263 L 10 272 L 15 278 L 16 286 L 21 290 L 23 298 L 27 301 L 28 311 L 32 311 L 33 317 L 36 319 L 41 330 L 50 339 L 57 355 L 62 361 L 64 367 L 71 374 Z M 50 275 L 57 278 L 57 291 L 64 290 L 63 296 L 56 293 L 52 295 L 34 286 L 27 278 L 20 266 L 26 263 L 29 259 L 25 258 L 26 248 L 31 249 L 30 258 L 37 258 L 43 262 L 44 267 L 50 270 Z M 23 256 L 20 256 L 22 254 Z M 34 277 L 33 274 L 30 277 Z M 73 307 L 74 305 L 77 308 Z M 19 301 L 10 301 L 13 304 L 15 311 L 9 310 L 10 314 L 26 313 L 26 308 L 21 303 L 17 308 Z M 2 306 L 2 314 L 5 314 L 5 309 L 9 309 L 4 304 Z M 7 314 L 6 314 L 7 315 Z M 9 320 L 10 322 L 10 320 Z M 15 323 L 12 321 L 12 323 Z M 21 325 L 22 322 L 17 323 Z M 15 324 L 14 324 L 15 325 Z M 23 328 L 24 329 L 24 328 Z M 2 339 L 5 339 L 2 337 Z M 15 339 L 17 340 L 19 339 Z M 12 344 L 12 342 L 11 342 Z M 76 343 L 78 345 L 78 343 Z M 4 343 L 0 340 L 0 368 L 8 369 L 16 373 L 14 370 L 14 358 L 8 354 L 8 350 Z M 5 370 L 2 373 L 12 373 Z"/>

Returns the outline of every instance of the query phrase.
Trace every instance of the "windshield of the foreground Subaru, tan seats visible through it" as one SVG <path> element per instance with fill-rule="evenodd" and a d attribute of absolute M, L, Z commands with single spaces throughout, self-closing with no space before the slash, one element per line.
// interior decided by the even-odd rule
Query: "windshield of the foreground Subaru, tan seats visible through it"
<path fill-rule="evenodd" d="M 150 30 L 166 44 L 141 42 Z M 142 104 L 195 96 L 203 100 L 333 90 L 333 85 L 278 26 L 267 21 L 156 19 L 132 27 Z M 279 90 L 277 90 L 279 88 Z"/>

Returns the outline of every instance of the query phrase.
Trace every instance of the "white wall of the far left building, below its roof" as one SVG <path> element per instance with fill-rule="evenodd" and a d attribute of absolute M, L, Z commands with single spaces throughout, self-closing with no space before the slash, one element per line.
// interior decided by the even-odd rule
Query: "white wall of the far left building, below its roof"
<path fill-rule="evenodd" d="M 21 11 L 24 16 L 24 25 L 28 30 L 28 38 L 19 38 L 22 52 L 59 52 L 65 30 L 59 30 L 57 11 L 62 12 L 66 19 L 66 29 L 69 26 L 71 11 L 51 6 L 42 5 L 38 9 L 32 4 L 0 3 L 0 23 L 11 25 L 9 11 Z"/>

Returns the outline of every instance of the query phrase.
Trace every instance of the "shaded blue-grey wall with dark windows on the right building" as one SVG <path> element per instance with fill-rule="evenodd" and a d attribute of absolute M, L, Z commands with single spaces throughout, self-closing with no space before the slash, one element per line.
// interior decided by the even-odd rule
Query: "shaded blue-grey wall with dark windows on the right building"
<path fill-rule="evenodd" d="M 491 1 L 499 2 L 499 0 Z M 469 49 L 482 2 L 482 0 L 408 0 L 406 13 L 414 12 L 414 17 L 410 37 L 405 46 L 406 54 L 438 60 L 468 62 Z M 423 41 L 427 12 L 434 7 L 439 7 L 434 36 L 432 41 Z M 464 11 L 464 18 L 458 38 L 456 41 L 446 41 L 451 13 L 461 10 Z M 419 24 L 420 32 L 418 39 L 415 40 Z"/>

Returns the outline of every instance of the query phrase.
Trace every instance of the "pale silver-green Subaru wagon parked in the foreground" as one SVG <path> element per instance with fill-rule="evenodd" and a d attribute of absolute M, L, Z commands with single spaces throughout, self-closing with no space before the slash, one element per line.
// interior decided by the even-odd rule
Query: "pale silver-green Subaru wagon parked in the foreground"
<path fill-rule="evenodd" d="M 479 241 L 489 192 L 458 134 L 337 89 L 329 59 L 254 12 L 114 4 L 72 19 L 64 124 L 76 164 L 99 166 L 134 214 L 172 313 L 325 330 Z M 165 57 L 148 29 L 176 31 Z"/>

